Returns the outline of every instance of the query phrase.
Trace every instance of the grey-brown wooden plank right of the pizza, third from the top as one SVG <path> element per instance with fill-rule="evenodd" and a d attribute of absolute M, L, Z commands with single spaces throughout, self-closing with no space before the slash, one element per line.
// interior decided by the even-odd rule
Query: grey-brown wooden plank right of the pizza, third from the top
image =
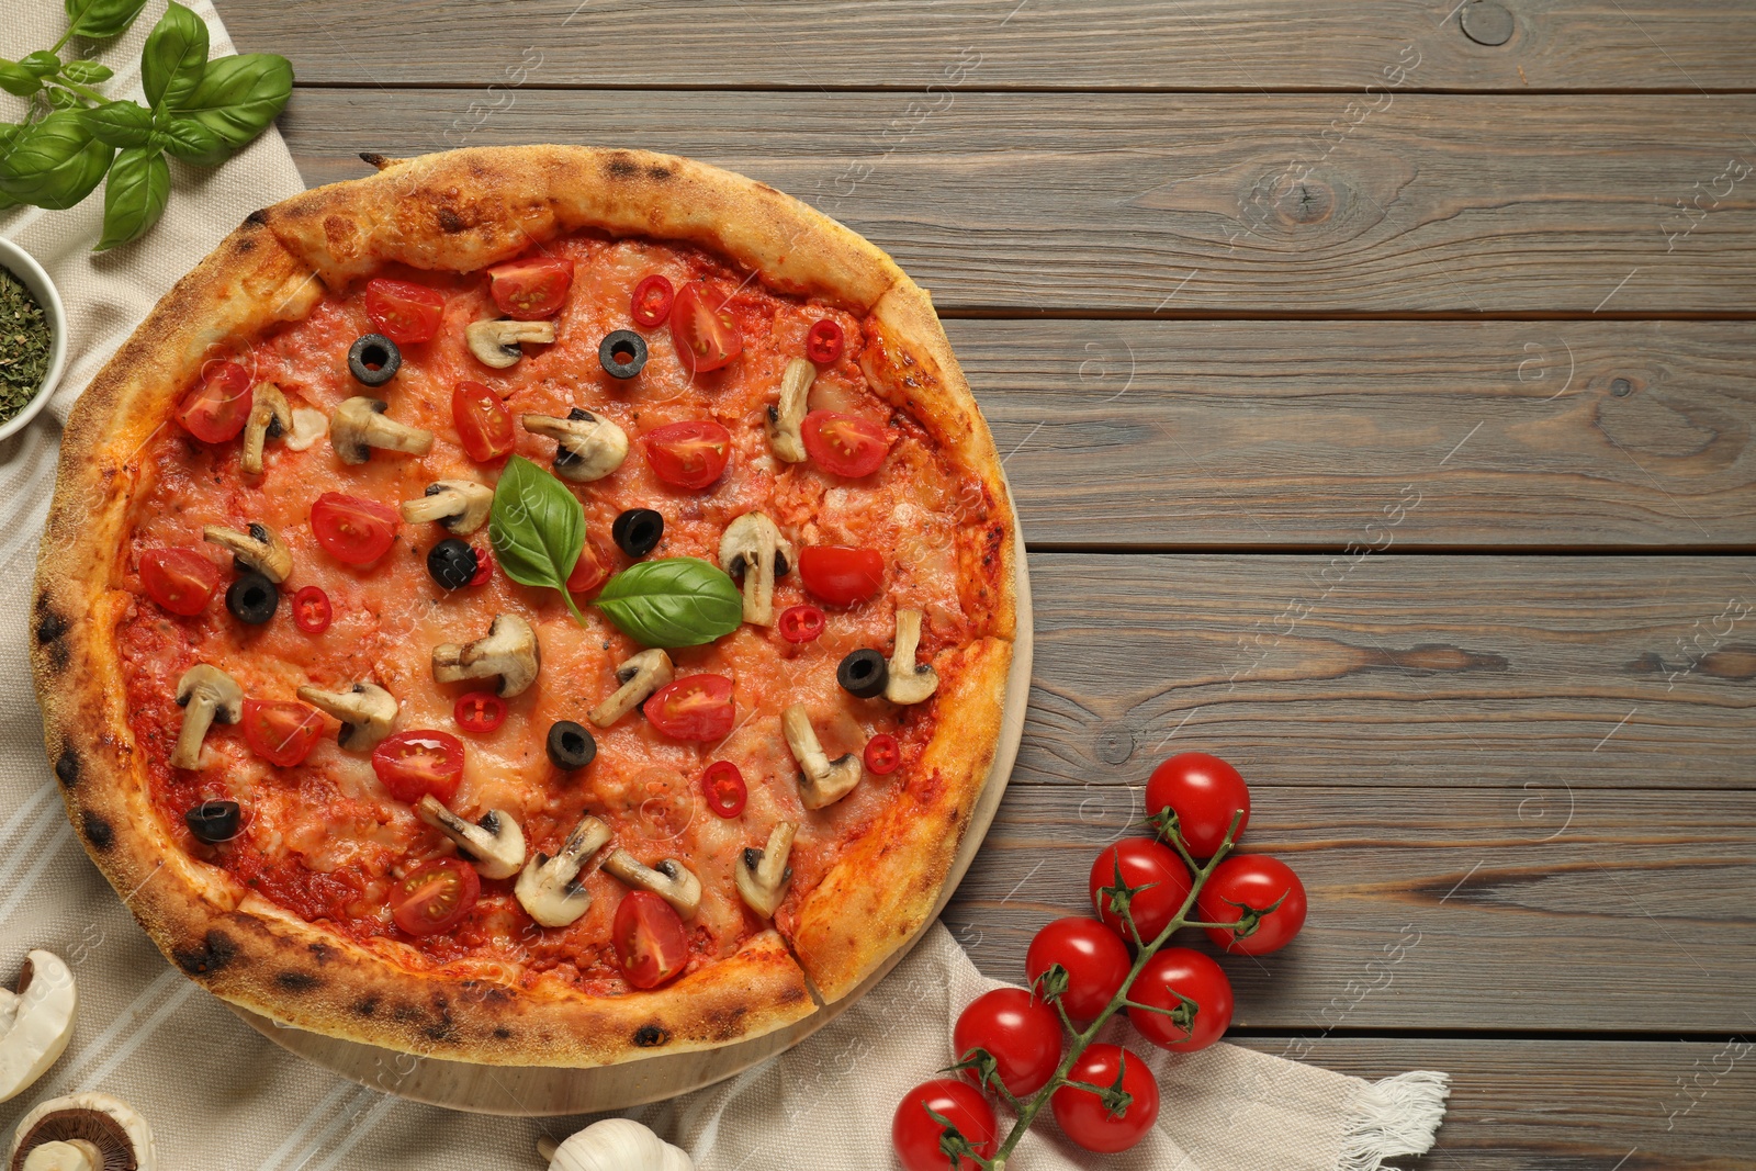
<path fill-rule="evenodd" d="M 1036 548 L 1756 541 L 1756 325 L 946 328 Z"/>

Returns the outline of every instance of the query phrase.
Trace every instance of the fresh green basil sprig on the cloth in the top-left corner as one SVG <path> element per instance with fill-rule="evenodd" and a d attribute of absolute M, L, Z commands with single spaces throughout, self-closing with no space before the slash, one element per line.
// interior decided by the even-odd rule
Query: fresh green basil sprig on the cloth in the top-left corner
<path fill-rule="evenodd" d="M 72 207 L 109 174 L 95 249 L 104 251 L 140 239 L 165 214 L 167 154 L 218 167 L 267 130 L 293 93 L 293 67 L 270 53 L 209 61 L 207 25 L 170 4 L 140 53 L 148 105 L 112 102 L 91 88 L 112 77 L 107 65 L 58 54 L 76 35 L 119 37 L 146 0 L 65 4 L 68 28 L 54 47 L 0 60 L 0 90 L 32 102 L 23 123 L 0 123 L 0 207 Z"/>

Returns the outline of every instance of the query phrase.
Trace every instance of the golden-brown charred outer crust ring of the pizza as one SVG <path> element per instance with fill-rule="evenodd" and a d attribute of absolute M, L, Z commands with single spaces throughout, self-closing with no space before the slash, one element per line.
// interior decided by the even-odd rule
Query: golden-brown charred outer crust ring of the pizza
<path fill-rule="evenodd" d="M 908 804 L 887 811 L 883 836 L 855 843 L 804 899 L 794 952 L 760 932 L 727 960 L 622 997 L 411 973 L 186 855 L 148 799 L 116 648 L 133 604 L 114 583 L 140 486 L 135 456 L 204 362 L 234 356 L 232 339 L 299 320 L 386 262 L 474 270 L 581 228 L 694 242 L 776 291 L 871 313 L 869 377 L 982 478 L 990 518 L 964 557 L 966 600 L 990 614 L 987 637 L 936 664 L 946 679 L 934 700 L 939 730 Z M 1010 516 L 992 437 L 931 300 L 839 223 L 760 183 L 644 151 L 544 146 L 409 160 L 249 216 L 76 404 L 32 620 L 44 744 L 86 853 L 167 959 L 234 1004 L 342 1039 L 481 1064 L 601 1066 L 715 1048 L 817 1011 L 794 955 L 832 1001 L 931 913 L 999 736 L 1017 621 Z M 882 887 L 860 890 L 862 864 Z"/>

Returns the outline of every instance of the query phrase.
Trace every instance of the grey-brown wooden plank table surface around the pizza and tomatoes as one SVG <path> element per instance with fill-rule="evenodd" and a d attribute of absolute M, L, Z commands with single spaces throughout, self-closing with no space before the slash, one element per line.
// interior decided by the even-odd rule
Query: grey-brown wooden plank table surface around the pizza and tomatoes
<path fill-rule="evenodd" d="M 1305 936 L 1234 1039 L 1456 1076 L 1422 1167 L 1756 1160 L 1756 7 L 230 0 L 356 151 L 644 146 L 929 286 L 1017 488 L 1018 978 L 1184 748 Z"/>

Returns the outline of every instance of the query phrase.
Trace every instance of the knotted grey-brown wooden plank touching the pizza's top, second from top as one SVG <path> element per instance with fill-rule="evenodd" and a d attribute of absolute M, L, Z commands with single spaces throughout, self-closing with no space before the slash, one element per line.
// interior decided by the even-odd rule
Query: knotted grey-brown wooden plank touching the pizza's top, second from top
<path fill-rule="evenodd" d="M 307 88 L 283 128 L 309 183 L 362 174 L 365 149 L 694 154 L 817 202 L 957 313 L 1756 307 L 1756 147 L 1737 130 L 1756 97 L 1375 102 Z"/>

